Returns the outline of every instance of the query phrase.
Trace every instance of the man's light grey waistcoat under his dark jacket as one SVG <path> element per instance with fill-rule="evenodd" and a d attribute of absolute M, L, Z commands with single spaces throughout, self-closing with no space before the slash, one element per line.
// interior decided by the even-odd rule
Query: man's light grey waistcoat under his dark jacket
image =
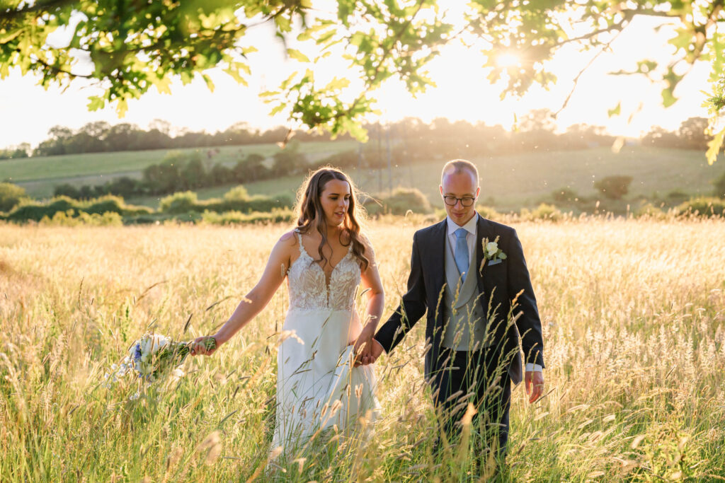
<path fill-rule="evenodd" d="M 463 285 L 460 285 L 460 272 L 453 257 L 450 236 L 446 235 L 446 288 L 441 308 L 444 323 L 442 345 L 454 350 L 481 349 L 486 340 L 486 314 L 481 307 L 481 293 L 476 283 L 475 252 L 470 258 L 468 274 Z M 490 343 L 486 341 L 486 345 Z"/>

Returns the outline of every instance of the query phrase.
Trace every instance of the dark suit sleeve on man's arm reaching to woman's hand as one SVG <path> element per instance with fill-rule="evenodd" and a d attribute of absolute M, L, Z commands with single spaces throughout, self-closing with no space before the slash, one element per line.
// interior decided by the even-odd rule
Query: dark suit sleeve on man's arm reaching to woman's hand
<path fill-rule="evenodd" d="M 410 275 L 407 293 L 388 321 L 378 329 L 375 339 L 389 353 L 426 313 L 426 285 L 418 246 L 418 233 L 413 235 L 413 253 L 410 255 Z"/>

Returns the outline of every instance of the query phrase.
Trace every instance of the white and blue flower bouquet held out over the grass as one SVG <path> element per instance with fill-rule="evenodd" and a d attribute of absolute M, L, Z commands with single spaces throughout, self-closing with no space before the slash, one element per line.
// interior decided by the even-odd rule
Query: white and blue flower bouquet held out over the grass
<path fill-rule="evenodd" d="M 213 337 L 207 339 L 206 346 L 207 350 L 216 347 Z M 173 342 L 165 335 L 146 334 L 131 344 L 128 356 L 123 358 L 120 366 L 117 364 L 111 366 L 112 372 L 105 374 L 106 386 L 109 387 L 129 372 L 135 372 L 137 377 L 146 382 L 154 382 L 172 368 L 175 370 L 175 375 L 181 377 L 183 372 L 178 366 L 189 353 L 191 353 L 190 342 Z"/>

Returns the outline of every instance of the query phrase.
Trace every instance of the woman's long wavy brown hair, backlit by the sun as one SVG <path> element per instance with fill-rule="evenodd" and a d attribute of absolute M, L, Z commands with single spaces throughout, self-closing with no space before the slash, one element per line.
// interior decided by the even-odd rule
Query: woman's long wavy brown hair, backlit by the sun
<path fill-rule="evenodd" d="M 352 254 L 360 264 L 360 268 L 365 272 L 370 263 L 368 258 L 365 257 L 365 245 L 360 241 L 360 222 L 365 219 L 365 211 L 357 203 L 355 185 L 352 184 L 352 181 L 344 172 L 332 167 L 322 167 L 310 173 L 307 180 L 302 183 L 297 193 L 297 231 L 301 233 L 310 232 L 314 225 L 322 235 L 322 241 L 318 246 L 320 259 L 315 261 L 325 261 L 325 264 L 330 263 L 322 253 L 322 248 L 327 243 L 327 226 L 325 211 L 320 203 L 320 196 L 330 180 L 347 182 L 350 187 L 350 203 L 347 207 L 347 216 L 343 222 L 344 230 L 340 232 L 340 243 L 347 246 L 342 243 L 342 235 L 347 233 L 349 237 L 348 244 L 352 243 Z"/>

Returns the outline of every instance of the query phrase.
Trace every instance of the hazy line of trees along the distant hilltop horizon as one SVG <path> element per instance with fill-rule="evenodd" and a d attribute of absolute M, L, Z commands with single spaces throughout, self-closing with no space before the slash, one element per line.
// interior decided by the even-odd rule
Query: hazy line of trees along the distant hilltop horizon
<path fill-rule="evenodd" d="M 682 122 L 677 130 L 668 131 L 655 126 L 642 137 L 645 146 L 667 148 L 705 149 L 711 136 L 705 135 L 707 119 L 691 117 Z M 421 119 L 405 118 L 389 125 L 368 124 L 368 144 L 373 146 L 402 143 L 406 151 L 421 154 L 442 152 L 444 156 L 475 156 L 476 154 L 514 154 L 529 151 L 559 151 L 567 149 L 605 146 L 615 137 L 604 127 L 577 124 L 564 133 L 555 132 L 552 113 L 547 109 L 529 112 L 518 122 L 515 130 L 505 130 L 501 125 L 489 126 L 483 122 L 451 122 L 436 118 L 426 123 Z M 218 133 L 182 131 L 172 135 L 169 122 L 156 120 L 148 130 L 128 123 L 109 125 L 107 122 L 89 122 L 78 130 L 54 126 L 49 138 L 30 150 L 28 143 L 0 151 L 0 159 L 18 159 L 28 156 L 58 156 L 62 154 L 104 153 L 115 151 L 142 151 L 152 149 L 206 148 L 240 146 L 245 144 L 278 143 L 289 138 L 286 127 L 257 130 L 247 123 L 238 122 Z M 331 140 L 329 133 L 297 131 L 294 138 L 300 141 Z M 392 138 L 392 140 L 391 140 Z M 349 140 L 350 135 L 337 139 Z M 471 154 L 467 154 L 471 153 Z"/>

